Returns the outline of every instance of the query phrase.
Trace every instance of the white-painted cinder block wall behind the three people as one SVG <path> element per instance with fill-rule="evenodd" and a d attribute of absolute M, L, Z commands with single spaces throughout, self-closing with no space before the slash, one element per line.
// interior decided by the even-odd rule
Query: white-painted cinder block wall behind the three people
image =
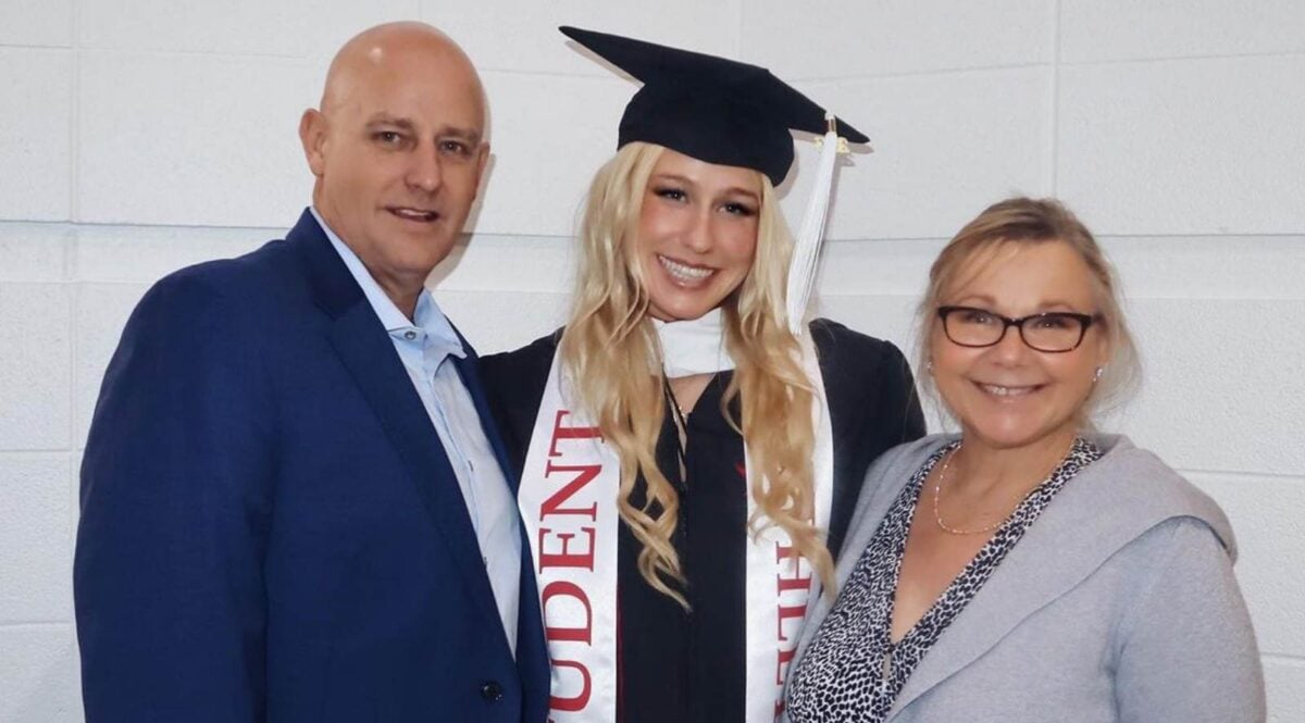
<path fill-rule="evenodd" d="M 769 65 L 867 131 L 822 311 L 903 346 L 944 239 L 1006 194 L 1064 197 L 1144 352 L 1109 425 L 1232 517 L 1271 719 L 1305 720 L 1305 4 L 0 0 L 0 722 L 81 720 L 77 467 L 128 312 L 295 221 L 299 112 L 343 39 L 402 17 L 461 40 L 491 95 L 475 234 L 436 278 L 482 351 L 560 321 L 576 208 L 633 89 L 559 23 Z"/>

